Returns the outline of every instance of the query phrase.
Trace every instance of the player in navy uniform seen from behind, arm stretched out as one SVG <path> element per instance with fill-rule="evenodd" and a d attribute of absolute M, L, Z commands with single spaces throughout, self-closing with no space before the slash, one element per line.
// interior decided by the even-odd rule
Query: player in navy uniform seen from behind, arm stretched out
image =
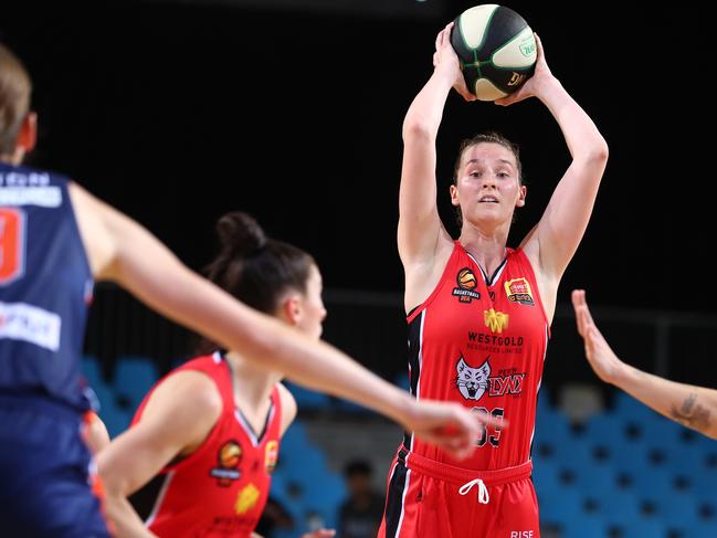
<path fill-rule="evenodd" d="M 82 441 L 91 404 L 80 359 L 94 281 L 113 281 L 225 349 L 240 350 L 300 384 L 363 404 L 456 455 L 472 451 L 470 439 L 479 420 L 464 409 L 414 402 L 336 348 L 202 278 L 146 229 L 77 182 L 23 166 L 36 140 L 31 92 L 24 65 L 0 44 L 3 534 L 108 536 L 88 487 L 92 462 Z M 55 495 L 57 490 L 63 494 Z"/>

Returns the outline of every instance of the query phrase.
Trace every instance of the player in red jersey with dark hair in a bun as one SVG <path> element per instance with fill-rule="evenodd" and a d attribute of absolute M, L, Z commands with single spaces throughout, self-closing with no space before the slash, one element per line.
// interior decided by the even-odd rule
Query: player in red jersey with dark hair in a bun
<path fill-rule="evenodd" d="M 321 276 L 304 251 L 268 239 L 250 215 L 228 213 L 209 278 L 244 304 L 318 339 L 326 310 Z M 133 424 L 98 465 L 107 514 L 119 536 L 135 536 L 124 497 L 158 473 L 164 483 L 146 526 L 167 538 L 250 537 L 268 497 L 281 437 L 296 415 L 282 373 L 204 342 L 203 355 L 161 379 Z M 139 531 L 141 534 L 141 531 Z M 319 536 L 333 536 L 325 530 Z M 312 535 L 314 536 L 314 535 Z"/>

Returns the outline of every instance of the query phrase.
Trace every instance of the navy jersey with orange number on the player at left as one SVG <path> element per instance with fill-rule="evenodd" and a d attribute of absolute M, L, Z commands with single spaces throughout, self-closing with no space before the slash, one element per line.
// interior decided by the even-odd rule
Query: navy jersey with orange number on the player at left
<path fill-rule="evenodd" d="M 0 162 L 0 392 L 84 412 L 92 272 L 62 176 Z"/>

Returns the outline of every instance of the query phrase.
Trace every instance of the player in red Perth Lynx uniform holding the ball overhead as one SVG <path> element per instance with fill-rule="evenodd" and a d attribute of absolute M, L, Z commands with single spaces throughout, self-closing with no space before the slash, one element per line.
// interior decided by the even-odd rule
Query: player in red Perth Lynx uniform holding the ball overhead
<path fill-rule="evenodd" d="M 408 431 L 390 470 L 379 536 L 535 538 L 530 444 L 542 361 L 558 284 L 588 224 L 608 147 L 550 73 L 536 35 L 535 74 L 496 104 L 538 98 L 560 126 L 572 162 L 540 221 L 512 249 L 514 211 L 526 203 L 517 148 L 494 133 L 466 140 L 450 187 L 462 218 L 453 240 L 436 208 L 435 141 L 451 88 L 466 101 L 474 97 L 451 46 L 451 28 L 437 34 L 433 74 L 403 123 L 398 245 L 411 392 L 419 400 L 458 402 L 510 428 L 485 429 L 464 461 Z"/>

